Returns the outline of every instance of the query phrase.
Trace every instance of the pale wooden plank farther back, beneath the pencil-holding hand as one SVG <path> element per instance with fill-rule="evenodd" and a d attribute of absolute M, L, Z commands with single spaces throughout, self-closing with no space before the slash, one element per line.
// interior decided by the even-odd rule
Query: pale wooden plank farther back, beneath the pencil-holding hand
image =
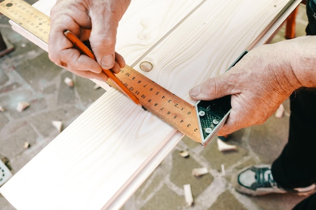
<path fill-rule="evenodd" d="M 185 19 L 203 0 L 181 1 L 143 1 L 133 0 L 120 21 L 117 33 L 116 51 L 124 56 L 127 63 L 137 62 L 146 51 L 170 33 L 179 22 Z M 33 7 L 47 16 L 56 0 L 36 2 Z M 30 41 L 48 51 L 48 45 L 18 24 L 10 21 L 12 28 Z M 128 32 L 128 36 L 126 33 Z M 109 90 L 106 83 L 92 79 L 94 83 Z"/>

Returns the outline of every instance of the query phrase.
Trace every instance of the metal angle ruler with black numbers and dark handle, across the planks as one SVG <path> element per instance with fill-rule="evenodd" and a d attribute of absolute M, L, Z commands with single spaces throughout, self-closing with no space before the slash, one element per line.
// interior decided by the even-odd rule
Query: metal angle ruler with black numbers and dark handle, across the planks
<path fill-rule="evenodd" d="M 48 44 L 50 18 L 42 12 L 22 0 L 0 3 L 0 12 Z M 204 147 L 225 123 L 231 110 L 230 96 L 198 101 L 193 106 L 128 65 L 116 76 L 145 109 Z"/>

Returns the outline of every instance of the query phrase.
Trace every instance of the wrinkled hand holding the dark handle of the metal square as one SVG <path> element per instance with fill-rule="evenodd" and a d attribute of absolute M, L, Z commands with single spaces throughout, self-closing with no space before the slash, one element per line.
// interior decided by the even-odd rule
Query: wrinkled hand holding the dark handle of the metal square
<path fill-rule="evenodd" d="M 264 123 L 299 87 L 286 54 L 280 44 L 255 48 L 225 74 L 190 90 L 195 100 L 232 95 L 232 110 L 219 136 Z"/>

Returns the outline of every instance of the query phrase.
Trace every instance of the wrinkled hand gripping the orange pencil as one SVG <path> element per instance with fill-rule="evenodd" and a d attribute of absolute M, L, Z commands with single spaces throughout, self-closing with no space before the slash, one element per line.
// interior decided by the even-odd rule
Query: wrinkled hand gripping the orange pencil
<path fill-rule="evenodd" d="M 107 81 L 101 68 L 119 73 L 125 61 L 115 52 L 117 27 L 129 4 L 130 0 L 58 0 L 50 12 L 50 60 L 84 78 Z M 73 48 L 66 30 L 89 40 L 97 61 Z"/>

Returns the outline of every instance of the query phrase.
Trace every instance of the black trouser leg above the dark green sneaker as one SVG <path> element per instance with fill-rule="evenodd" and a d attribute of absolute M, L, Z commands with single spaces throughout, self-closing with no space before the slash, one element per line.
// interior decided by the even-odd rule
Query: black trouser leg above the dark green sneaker
<path fill-rule="evenodd" d="M 272 165 L 274 179 L 285 188 L 305 187 L 316 182 L 314 90 L 301 89 L 291 96 L 289 141 Z"/>

